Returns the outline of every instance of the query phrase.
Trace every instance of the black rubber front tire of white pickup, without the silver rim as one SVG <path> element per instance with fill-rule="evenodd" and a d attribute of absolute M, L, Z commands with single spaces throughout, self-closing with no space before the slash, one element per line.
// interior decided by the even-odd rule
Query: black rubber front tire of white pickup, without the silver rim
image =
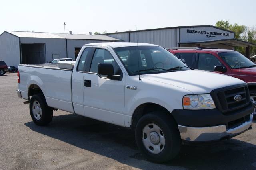
<path fill-rule="evenodd" d="M 154 123 L 162 130 L 165 138 L 165 144 L 162 151 L 158 154 L 149 152 L 143 144 L 142 131 L 145 126 Z M 150 133 L 151 134 L 151 133 Z M 152 162 L 162 163 L 175 158 L 180 152 L 181 138 L 178 125 L 170 113 L 148 113 L 142 116 L 135 129 L 135 140 L 142 154 Z M 150 147 L 149 147 L 150 148 Z"/>

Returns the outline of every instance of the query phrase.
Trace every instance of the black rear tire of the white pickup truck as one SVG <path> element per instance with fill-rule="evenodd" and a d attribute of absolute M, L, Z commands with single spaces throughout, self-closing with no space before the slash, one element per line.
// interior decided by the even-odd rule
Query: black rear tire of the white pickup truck
<path fill-rule="evenodd" d="M 35 111 L 36 109 L 33 104 L 34 102 L 35 104 L 37 102 L 40 104 L 38 107 L 39 108 L 38 110 L 40 110 L 40 118 L 39 116 L 38 118 L 34 116 L 33 110 Z M 52 121 L 53 110 L 47 106 L 47 103 L 43 94 L 34 94 L 31 97 L 29 109 L 30 109 L 30 116 L 36 125 L 44 126 L 49 124 Z"/>

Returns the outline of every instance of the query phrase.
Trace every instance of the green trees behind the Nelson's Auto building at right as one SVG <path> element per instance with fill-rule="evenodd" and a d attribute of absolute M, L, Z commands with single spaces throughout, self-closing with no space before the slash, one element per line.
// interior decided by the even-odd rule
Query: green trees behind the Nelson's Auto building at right
<path fill-rule="evenodd" d="M 215 26 L 235 32 L 236 39 L 256 44 L 256 27 L 247 27 L 245 25 L 238 25 L 237 23 L 230 24 L 228 20 L 218 21 Z M 235 50 L 245 55 L 245 47 L 235 47 Z M 250 47 L 249 54 L 250 56 L 256 55 L 256 47 Z"/>

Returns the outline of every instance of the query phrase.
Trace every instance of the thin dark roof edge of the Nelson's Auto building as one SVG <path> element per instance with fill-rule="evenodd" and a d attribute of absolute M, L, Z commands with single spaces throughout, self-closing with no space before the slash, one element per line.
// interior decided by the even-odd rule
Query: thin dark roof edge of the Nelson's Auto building
<path fill-rule="evenodd" d="M 106 34 L 101 34 L 101 35 L 110 35 L 110 34 L 118 34 L 118 33 L 132 33 L 132 32 L 140 32 L 140 31 L 154 31 L 154 30 L 161 30 L 161 29 L 173 29 L 173 28 L 197 28 L 197 27 L 213 27 L 216 29 L 220 29 L 223 31 L 228 31 L 230 33 L 235 33 L 233 31 L 227 30 L 227 29 L 222 29 L 213 25 L 192 25 L 192 26 L 178 26 L 178 27 L 164 27 L 164 28 L 154 28 L 154 29 L 142 29 L 142 30 L 137 30 L 137 31 L 124 31 L 124 32 L 117 32 L 117 33 L 106 33 Z"/>

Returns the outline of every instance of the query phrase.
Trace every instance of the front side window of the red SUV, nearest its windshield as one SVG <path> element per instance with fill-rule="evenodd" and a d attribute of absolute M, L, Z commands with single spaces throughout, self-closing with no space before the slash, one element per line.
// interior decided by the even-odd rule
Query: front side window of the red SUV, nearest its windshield
<path fill-rule="evenodd" d="M 222 65 L 220 61 L 212 54 L 199 53 L 198 69 L 206 71 L 214 71 L 214 66 Z"/>

